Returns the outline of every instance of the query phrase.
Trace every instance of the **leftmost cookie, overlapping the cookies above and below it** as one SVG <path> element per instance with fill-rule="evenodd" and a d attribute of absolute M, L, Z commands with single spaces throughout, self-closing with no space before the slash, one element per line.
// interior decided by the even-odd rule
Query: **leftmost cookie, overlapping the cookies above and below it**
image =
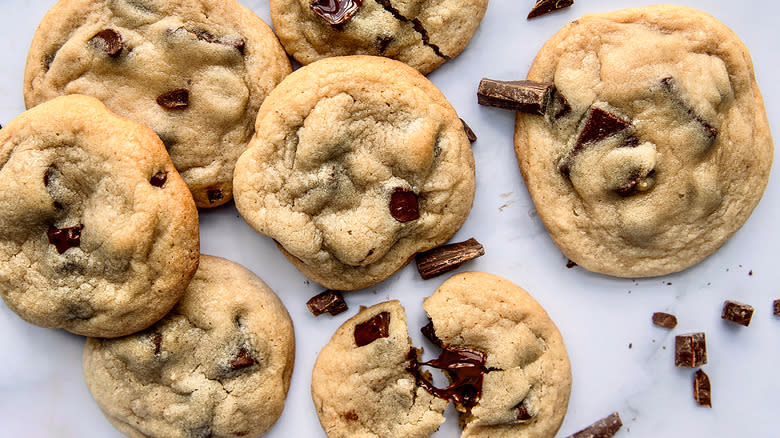
<path fill-rule="evenodd" d="M 87 96 L 0 130 L 0 296 L 87 336 L 149 327 L 198 265 L 198 212 L 154 132 Z"/>

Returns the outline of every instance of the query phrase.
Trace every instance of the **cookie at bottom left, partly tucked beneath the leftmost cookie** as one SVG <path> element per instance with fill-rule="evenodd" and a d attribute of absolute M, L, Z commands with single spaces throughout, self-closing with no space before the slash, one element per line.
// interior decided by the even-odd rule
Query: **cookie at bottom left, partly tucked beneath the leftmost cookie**
<path fill-rule="evenodd" d="M 202 256 L 160 322 L 87 339 L 84 377 L 128 436 L 257 437 L 282 413 L 294 353 L 292 321 L 273 291 L 236 263 Z"/>

